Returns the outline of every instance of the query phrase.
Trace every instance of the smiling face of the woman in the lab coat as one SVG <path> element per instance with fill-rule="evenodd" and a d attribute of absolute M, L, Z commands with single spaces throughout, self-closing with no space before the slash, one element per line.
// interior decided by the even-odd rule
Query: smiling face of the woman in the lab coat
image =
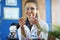
<path fill-rule="evenodd" d="M 29 2 L 25 5 L 25 13 L 28 18 L 36 17 L 37 7 L 35 3 Z"/>

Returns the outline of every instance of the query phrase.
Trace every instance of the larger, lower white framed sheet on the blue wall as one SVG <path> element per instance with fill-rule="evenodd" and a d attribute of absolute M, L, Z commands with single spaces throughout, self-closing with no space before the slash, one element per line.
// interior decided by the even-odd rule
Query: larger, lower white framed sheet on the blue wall
<path fill-rule="evenodd" d="M 7 8 L 4 7 L 4 19 L 18 19 L 19 8 Z"/>

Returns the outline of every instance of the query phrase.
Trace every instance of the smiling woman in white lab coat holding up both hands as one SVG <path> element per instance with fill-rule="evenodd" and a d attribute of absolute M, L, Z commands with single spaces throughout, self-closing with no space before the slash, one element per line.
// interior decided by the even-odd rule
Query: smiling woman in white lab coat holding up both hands
<path fill-rule="evenodd" d="M 38 6 L 35 0 L 25 2 L 25 13 L 26 18 L 19 19 L 19 40 L 22 40 L 21 37 L 34 40 L 37 38 L 47 40 L 48 25 L 46 22 L 38 19 Z"/>

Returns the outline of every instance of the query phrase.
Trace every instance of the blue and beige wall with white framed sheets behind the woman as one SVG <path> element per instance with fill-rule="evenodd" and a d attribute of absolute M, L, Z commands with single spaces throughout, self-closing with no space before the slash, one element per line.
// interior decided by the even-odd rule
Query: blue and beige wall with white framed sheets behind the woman
<path fill-rule="evenodd" d="M 26 17 L 24 3 L 26 0 L 0 0 L 0 40 L 6 40 L 11 23 Z M 37 0 L 39 19 L 46 21 L 49 31 L 55 30 L 54 25 L 60 25 L 60 0 Z M 14 10 L 14 11 L 12 11 Z"/>

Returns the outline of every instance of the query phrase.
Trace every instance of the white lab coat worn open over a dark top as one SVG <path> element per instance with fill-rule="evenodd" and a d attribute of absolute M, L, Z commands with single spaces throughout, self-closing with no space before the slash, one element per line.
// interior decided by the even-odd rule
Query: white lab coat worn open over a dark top
<path fill-rule="evenodd" d="M 40 39 L 47 40 L 47 38 L 48 38 L 48 25 L 46 22 L 43 22 L 42 20 L 39 20 L 39 24 L 41 25 L 41 28 L 43 29 L 43 31 L 41 31 L 39 37 L 40 37 Z M 24 25 L 24 30 L 25 30 L 27 38 L 31 38 L 31 39 L 38 38 L 37 29 L 38 28 L 36 27 L 36 25 L 33 25 L 32 29 L 30 31 L 30 29 L 26 25 Z M 19 40 L 25 40 L 25 38 L 21 35 L 21 27 L 18 29 L 18 37 L 19 37 Z M 22 38 L 24 38 L 24 39 L 22 39 Z"/>

